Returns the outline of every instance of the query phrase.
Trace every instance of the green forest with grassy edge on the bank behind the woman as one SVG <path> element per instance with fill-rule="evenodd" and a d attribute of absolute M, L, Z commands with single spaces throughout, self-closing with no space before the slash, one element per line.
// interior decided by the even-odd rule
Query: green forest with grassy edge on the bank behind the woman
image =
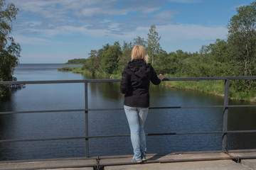
<path fill-rule="evenodd" d="M 256 75 L 256 1 L 237 8 L 237 15 L 228 22 L 228 38 L 203 45 L 199 52 L 166 52 L 161 48 L 161 36 L 151 26 L 146 40 L 138 36 L 133 42 L 114 42 L 91 50 L 83 71 L 102 77 L 120 78 L 131 60 L 134 45 L 143 45 L 149 54 L 149 63 L 165 77 L 254 77 Z M 78 69 L 78 68 L 76 68 Z M 74 70 L 75 71 L 75 70 Z M 164 82 L 166 86 L 193 89 L 209 94 L 223 95 L 223 81 Z M 231 81 L 230 98 L 256 101 L 255 80 Z"/>

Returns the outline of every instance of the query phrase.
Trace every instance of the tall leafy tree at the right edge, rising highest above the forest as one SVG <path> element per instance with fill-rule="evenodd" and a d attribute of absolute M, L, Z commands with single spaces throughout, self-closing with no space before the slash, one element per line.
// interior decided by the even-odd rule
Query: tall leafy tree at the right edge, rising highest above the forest
<path fill-rule="evenodd" d="M 228 23 L 228 43 L 239 75 L 255 75 L 256 58 L 256 1 L 237 8 L 238 14 Z"/>

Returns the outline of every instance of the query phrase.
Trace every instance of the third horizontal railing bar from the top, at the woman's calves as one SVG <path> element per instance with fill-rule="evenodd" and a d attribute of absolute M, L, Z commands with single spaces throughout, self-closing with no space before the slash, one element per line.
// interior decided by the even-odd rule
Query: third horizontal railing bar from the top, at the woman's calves
<path fill-rule="evenodd" d="M 146 136 L 162 136 L 162 135 L 207 135 L 207 134 L 230 134 L 230 133 L 254 133 L 256 130 L 232 130 L 232 131 L 209 131 L 209 132 L 168 132 L 168 133 L 146 133 Z M 58 137 L 58 138 L 41 138 L 41 139 L 26 139 L 26 140 L 0 140 L 1 142 L 35 142 L 48 140 L 82 140 L 90 138 L 104 138 L 104 137 L 128 137 L 129 134 L 124 135 L 96 135 L 83 137 Z"/>

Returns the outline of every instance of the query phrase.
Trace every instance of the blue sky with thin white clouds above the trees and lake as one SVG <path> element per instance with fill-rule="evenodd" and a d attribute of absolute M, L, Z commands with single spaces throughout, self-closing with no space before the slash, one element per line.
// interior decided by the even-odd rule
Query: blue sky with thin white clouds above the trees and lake
<path fill-rule="evenodd" d="M 166 52 L 225 40 L 236 8 L 253 0 L 6 0 L 19 8 L 11 36 L 23 63 L 65 63 L 118 41 L 146 40 L 156 26 Z"/>

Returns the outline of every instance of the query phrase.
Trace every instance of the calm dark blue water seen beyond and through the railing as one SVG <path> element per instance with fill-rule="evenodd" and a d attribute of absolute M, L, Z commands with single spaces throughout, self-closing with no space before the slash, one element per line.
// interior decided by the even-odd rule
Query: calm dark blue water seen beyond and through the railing
<path fill-rule="evenodd" d="M 21 64 L 18 81 L 92 79 L 82 74 L 58 72 L 58 64 Z M 64 66 L 66 67 L 66 66 Z M 122 108 L 119 83 L 89 84 L 89 108 Z M 150 88 L 151 106 L 223 105 L 223 98 L 171 89 Z M 84 84 L 28 84 L 0 103 L 0 111 L 83 109 Z M 251 104 L 230 101 L 231 104 Z M 255 108 L 230 108 L 228 130 L 256 130 Z M 150 110 L 146 133 L 218 131 L 223 128 L 222 108 Z M 129 134 L 124 111 L 91 111 L 89 135 Z M 0 115 L 0 140 L 85 136 L 85 113 L 24 113 Z M 148 136 L 148 153 L 220 150 L 222 135 Z M 89 140 L 90 157 L 132 154 L 129 137 Z M 256 148 L 255 134 L 228 135 L 228 149 Z M 85 140 L 0 143 L 0 160 L 85 157 Z"/>

